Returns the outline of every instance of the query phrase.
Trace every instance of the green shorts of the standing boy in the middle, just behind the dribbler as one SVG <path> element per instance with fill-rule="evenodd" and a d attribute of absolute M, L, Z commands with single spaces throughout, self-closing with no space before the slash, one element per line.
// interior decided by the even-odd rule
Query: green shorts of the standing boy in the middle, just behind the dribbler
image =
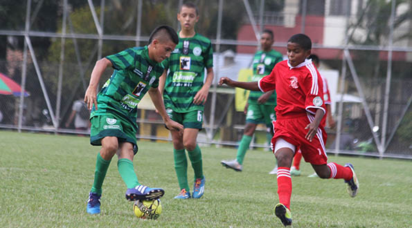
<path fill-rule="evenodd" d="M 203 124 L 203 111 L 196 110 L 188 113 L 177 113 L 172 108 L 166 108 L 170 119 L 183 125 L 184 129 L 199 129 Z"/>

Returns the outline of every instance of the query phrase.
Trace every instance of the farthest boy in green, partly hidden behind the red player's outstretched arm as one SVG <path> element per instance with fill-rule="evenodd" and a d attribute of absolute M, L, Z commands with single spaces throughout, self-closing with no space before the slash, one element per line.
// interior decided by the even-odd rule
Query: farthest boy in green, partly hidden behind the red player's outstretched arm
<path fill-rule="evenodd" d="M 258 50 L 253 57 L 253 77 L 252 82 L 258 82 L 262 77 L 269 75 L 274 66 L 283 60 L 282 54 L 271 48 L 274 44 L 274 33 L 271 30 L 263 30 L 260 37 L 260 46 L 262 50 Z M 270 142 L 273 135 L 271 128 L 272 121 L 276 120 L 274 108 L 276 106 L 276 92 L 269 91 L 262 93 L 261 91 L 251 91 L 244 113 L 246 114 L 246 126 L 242 140 L 238 147 L 238 153 L 235 160 L 223 160 L 221 164 L 235 171 L 242 171 L 244 155 L 251 144 L 253 133 L 256 126 L 260 123 L 267 125 L 267 139 Z"/>

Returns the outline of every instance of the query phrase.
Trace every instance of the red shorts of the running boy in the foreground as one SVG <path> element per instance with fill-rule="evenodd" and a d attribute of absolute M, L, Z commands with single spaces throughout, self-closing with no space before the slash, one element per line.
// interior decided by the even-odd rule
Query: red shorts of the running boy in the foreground
<path fill-rule="evenodd" d="M 310 164 L 327 164 L 328 156 L 325 152 L 326 133 L 323 126 L 319 126 L 318 132 L 313 137 L 312 142 L 305 139 L 307 133 L 305 127 L 313 120 L 314 116 L 308 114 L 307 116 L 282 118 L 274 121 L 274 137 L 271 143 L 275 145 L 276 139 L 282 137 L 283 140 L 294 144 L 296 151 L 301 149 L 305 162 L 309 162 Z"/>

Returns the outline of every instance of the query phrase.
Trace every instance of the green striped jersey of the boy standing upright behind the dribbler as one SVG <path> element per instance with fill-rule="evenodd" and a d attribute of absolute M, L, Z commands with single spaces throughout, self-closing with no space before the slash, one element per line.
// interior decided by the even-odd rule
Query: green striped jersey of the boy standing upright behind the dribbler
<path fill-rule="evenodd" d="M 162 63 L 169 68 L 163 92 L 165 107 L 177 113 L 203 111 L 204 105 L 193 104 L 193 98 L 204 84 L 204 69 L 213 67 L 211 41 L 198 33 L 179 37 L 179 44 Z"/>

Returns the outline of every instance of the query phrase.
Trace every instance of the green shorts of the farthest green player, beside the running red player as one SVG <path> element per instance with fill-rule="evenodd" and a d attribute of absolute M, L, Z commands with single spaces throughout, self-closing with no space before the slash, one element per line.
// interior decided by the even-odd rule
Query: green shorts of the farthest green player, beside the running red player
<path fill-rule="evenodd" d="M 253 124 L 266 124 L 271 127 L 272 121 L 276 120 L 274 105 L 249 104 L 246 114 L 246 122 Z"/>

